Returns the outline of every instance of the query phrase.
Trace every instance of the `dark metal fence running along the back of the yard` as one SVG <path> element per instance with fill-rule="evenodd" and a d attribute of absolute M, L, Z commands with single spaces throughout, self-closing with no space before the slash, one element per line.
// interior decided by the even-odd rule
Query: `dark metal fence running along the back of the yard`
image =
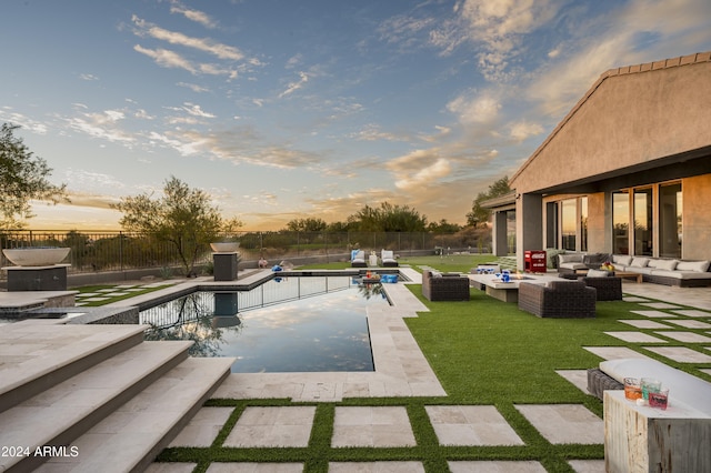
<path fill-rule="evenodd" d="M 488 242 L 481 236 L 461 234 L 405 233 L 405 232 L 239 232 L 222 235 L 220 241 L 239 241 L 241 261 L 269 262 L 319 256 L 321 261 L 342 261 L 351 250 L 365 252 L 393 250 L 401 256 L 422 251 L 487 252 Z M 0 231 L 0 249 L 24 246 L 71 248 L 64 263 L 69 273 L 128 271 L 136 269 L 176 268 L 180 258 L 174 244 L 152 235 L 123 231 Z M 212 261 L 209 245 L 199 249 L 197 264 Z M 4 254 L 2 266 L 11 265 Z M 4 273 L 4 271 L 2 272 Z M 1 278 L 6 278 L 2 274 Z"/>

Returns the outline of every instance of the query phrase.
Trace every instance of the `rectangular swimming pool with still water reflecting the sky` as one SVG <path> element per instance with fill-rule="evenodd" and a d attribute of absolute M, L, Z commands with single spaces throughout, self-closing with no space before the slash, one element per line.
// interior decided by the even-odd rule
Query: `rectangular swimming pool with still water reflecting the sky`
<path fill-rule="evenodd" d="M 194 356 L 236 356 L 233 373 L 373 371 L 365 311 L 388 304 L 359 278 L 274 278 L 200 291 L 140 312 L 147 340 L 193 340 Z"/>

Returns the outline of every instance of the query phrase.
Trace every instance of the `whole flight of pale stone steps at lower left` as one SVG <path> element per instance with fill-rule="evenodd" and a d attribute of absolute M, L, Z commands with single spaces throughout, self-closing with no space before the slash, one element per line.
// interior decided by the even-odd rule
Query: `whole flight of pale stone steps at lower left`
<path fill-rule="evenodd" d="M 0 445 L 22 451 L 0 456 L 2 472 L 141 471 L 234 362 L 188 358 L 192 342 L 144 342 L 141 325 L 9 325 L 18 326 L 0 334 Z"/>

